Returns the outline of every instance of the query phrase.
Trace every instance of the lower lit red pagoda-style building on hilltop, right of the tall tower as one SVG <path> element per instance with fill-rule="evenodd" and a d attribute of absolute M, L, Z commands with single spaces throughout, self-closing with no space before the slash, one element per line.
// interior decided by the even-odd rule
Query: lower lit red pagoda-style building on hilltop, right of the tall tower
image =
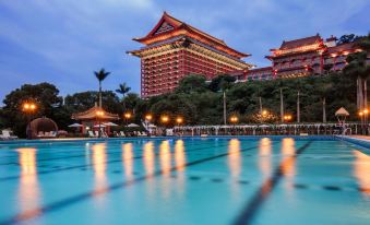
<path fill-rule="evenodd" d="M 240 81 L 299 78 L 342 70 L 348 54 L 360 51 L 353 43 L 337 45 L 335 37 L 323 39 L 319 34 L 294 40 L 284 40 L 279 48 L 266 56 L 272 66 L 235 72 Z"/>

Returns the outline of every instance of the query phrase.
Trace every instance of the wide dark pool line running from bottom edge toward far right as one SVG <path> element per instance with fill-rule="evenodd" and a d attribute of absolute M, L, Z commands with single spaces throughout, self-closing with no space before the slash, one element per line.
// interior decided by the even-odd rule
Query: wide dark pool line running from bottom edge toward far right
<path fill-rule="evenodd" d="M 309 141 L 303 146 L 299 147 L 294 156 L 285 158 L 279 164 L 279 166 L 274 170 L 273 176 L 263 182 L 263 185 L 258 189 L 254 196 L 242 208 L 240 214 L 234 222 L 235 225 L 252 224 L 253 218 L 259 213 L 263 203 L 271 196 L 274 188 L 279 183 L 279 181 L 284 177 L 283 174 L 284 163 L 286 161 L 296 159 L 300 154 L 305 152 L 305 150 L 307 150 L 311 145 L 311 143 L 312 141 Z"/>

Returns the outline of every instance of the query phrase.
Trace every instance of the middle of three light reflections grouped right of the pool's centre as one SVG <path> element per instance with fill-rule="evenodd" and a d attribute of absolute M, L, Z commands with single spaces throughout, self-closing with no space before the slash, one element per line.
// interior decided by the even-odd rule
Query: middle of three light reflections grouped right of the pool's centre
<path fill-rule="evenodd" d="M 260 157 L 259 157 L 259 167 L 262 171 L 263 177 L 267 177 L 271 174 L 272 163 L 272 141 L 268 138 L 263 138 L 260 140 Z"/>

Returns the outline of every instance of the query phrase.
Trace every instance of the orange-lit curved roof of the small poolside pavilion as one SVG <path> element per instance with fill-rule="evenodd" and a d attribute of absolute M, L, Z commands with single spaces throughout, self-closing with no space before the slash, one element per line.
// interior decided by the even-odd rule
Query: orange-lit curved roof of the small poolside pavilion
<path fill-rule="evenodd" d="M 98 112 L 102 111 L 103 114 L 99 115 Z M 86 111 L 77 112 L 77 114 L 72 114 L 72 119 L 74 120 L 96 120 L 96 119 L 102 119 L 102 120 L 119 120 L 118 114 L 110 114 L 104 108 L 94 106 L 93 108 L 89 108 Z"/>

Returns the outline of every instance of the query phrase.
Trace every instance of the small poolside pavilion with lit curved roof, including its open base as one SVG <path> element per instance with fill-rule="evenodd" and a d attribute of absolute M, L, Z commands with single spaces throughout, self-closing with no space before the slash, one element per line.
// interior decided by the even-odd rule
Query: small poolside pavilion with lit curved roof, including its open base
<path fill-rule="evenodd" d="M 104 126 L 104 123 L 110 122 L 112 120 L 119 120 L 117 114 L 111 114 L 104 108 L 94 106 L 86 111 L 77 112 L 72 115 L 72 119 L 79 120 L 82 123 L 82 133 L 86 133 L 88 130 L 99 130 L 100 128 L 106 128 L 107 133 L 110 133 L 110 127 Z"/>

